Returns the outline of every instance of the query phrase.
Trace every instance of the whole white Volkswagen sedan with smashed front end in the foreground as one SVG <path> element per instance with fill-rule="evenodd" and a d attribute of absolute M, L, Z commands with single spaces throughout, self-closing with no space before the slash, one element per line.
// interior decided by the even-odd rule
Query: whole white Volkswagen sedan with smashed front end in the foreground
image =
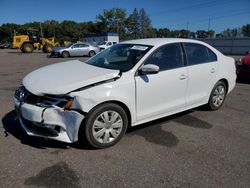
<path fill-rule="evenodd" d="M 219 109 L 235 80 L 234 60 L 206 43 L 141 39 L 114 45 L 85 63 L 35 70 L 14 101 L 28 135 L 68 143 L 83 136 L 105 148 L 129 126 L 204 104 Z"/>

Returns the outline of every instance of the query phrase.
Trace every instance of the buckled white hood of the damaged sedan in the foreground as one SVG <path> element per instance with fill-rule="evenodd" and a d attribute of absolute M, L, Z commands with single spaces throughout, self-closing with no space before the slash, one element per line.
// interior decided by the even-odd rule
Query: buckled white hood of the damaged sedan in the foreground
<path fill-rule="evenodd" d="M 29 73 L 24 87 L 35 95 L 64 95 L 81 87 L 119 76 L 119 70 L 88 65 L 79 60 L 49 65 Z"/>

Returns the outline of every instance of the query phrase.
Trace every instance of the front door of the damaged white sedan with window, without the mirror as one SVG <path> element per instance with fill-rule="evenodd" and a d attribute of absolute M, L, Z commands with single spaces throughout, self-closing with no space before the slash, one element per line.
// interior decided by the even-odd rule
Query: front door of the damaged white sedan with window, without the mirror
<path fill-rule="evenodd" d="M 179 43 L 159 47 L 144 62 L 159 66 L 157 74 L 137 75 L 137 120 L 181 111 L 185 107 L 187 69 Z"/>

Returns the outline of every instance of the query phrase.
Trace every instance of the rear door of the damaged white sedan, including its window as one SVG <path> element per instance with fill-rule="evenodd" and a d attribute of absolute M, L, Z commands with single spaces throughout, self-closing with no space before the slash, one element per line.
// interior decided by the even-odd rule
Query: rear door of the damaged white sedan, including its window
<path fill-rule="evenodd" d="M 188 87 L 187 106 L 193 107 L 207 102 L 216 81 L 217 56 L 206 46 L 184 43 L 187 58 Z"/>

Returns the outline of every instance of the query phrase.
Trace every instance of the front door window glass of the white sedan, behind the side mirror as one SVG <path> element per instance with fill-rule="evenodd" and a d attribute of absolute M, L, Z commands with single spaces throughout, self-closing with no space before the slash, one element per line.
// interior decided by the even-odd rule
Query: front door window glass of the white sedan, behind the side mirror
<path fill-rule="evenodd" d="M 144 64 L 157 65 L 160 68 L 160 71 L 182 67 L 181 45 L 175 43 L 160 47 L 153 52 Z"/>

